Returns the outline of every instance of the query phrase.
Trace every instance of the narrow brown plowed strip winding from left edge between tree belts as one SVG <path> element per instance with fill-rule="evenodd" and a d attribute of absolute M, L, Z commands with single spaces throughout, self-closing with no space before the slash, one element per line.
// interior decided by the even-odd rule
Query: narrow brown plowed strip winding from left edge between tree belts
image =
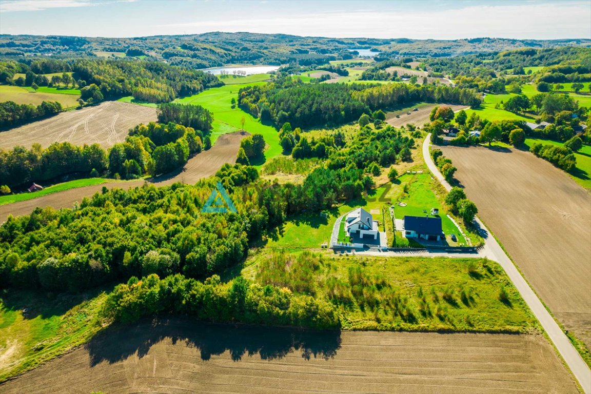
<path fill-rule="evenodd" d="M 36 207 L 70 208 L 76 201 L 82 200 L 83 197 L 92 197 L 93 194 L 101 191 L 103 187 L 133 188 L 147 182 L 157 186 L 170 185 L 175 182 L 196 183 L 201 178 L 215 174 L 223 164 L 234 164 L 240 148 L 240 141 L 247 135 L 248 133 L 242 134 L 240 132 L 221 135 L 209 151 L 203 151 L 190 158 L 182 171 L 167 174 L 151 181 L 113 181 L 47 194 L 46 196 L 33 198 L 33 200 L 2 205 L 0 206 L 0 223 L 3 223 L 9 214 L 12 214 L 12 216 L 30 214 Z"/>

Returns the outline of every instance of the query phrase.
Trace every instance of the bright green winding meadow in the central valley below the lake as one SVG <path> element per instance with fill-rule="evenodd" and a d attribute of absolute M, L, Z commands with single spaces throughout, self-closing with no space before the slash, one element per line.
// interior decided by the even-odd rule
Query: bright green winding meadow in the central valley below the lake
<path fill-rule="evenodd" d="M 282 152 L 279 133 L 274 127 L 262 124 L 259 119 L 255 119 L 252 115 L 238 108 L 238 106 L 232 108 L 232 104 L 230 103 L 232 97 L 238 98 L 238 90 L 241 87 L 252 86 L 253 84 L 261 85 L 265 84 L 265 82 L 214 87 L 194 96 L 176 99 L 175 102 L 201 105 L 213 112 L 212 142 L 215 142 L 222 134 L 239 131 L 241 129 L 241 119 L 244 118 L 245 131 L 251 134 L 262 134 L 265 142 L 267 142 L 265 161 L 268 161 Z M 262 163 L 256 163 L 256 167 L 260 168 L 261 166 Z"/>

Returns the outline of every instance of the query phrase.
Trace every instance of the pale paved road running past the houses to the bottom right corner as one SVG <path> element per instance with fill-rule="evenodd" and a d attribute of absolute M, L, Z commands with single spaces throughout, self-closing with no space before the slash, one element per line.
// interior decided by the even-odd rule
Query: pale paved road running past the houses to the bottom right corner
<path fill-rule="evenodd" d="M 429 153 L 430 141 L 431 134 L 428 134 L 423 142 L 423 157 L 425 158 L 427 167 L 437 180 L 443 184 L 443 187 L 450 190 L 452 186 L 445 180 L 445 178 L 443 178 L 443 175 L 439 172 L 433 159 L 431 159 Z M 558 352 L 563 357 L 567 366 L 569 366 L 570 370 L 573 372 L 574 377 L 579 381 L 583 391 L 586 394 L 591 394 L 591 370 L 589 369 L 589 366 L 584 362 L 579 352 L 574 349 L 573 344 L 570 343 L 569 338 L 563 333 L 560 327 L 558 327 L 558 324 L 546 310 L 540 301 L 540 298 L 535 295 L 530 285 L 528 285 L 521 273 L 517 271 L 515 264 L 509 259 L 509 256 L 501 248 L 501 245 L 496 242 L 496 239 L 491 235 L 491 232 L 489 232 L 478 217 L 476 217 L 476 223 L 479 224 L 481 235 L 485 239 L 486 255 L 502 266 L 509 276 L 509 279 L 511 279 L 515 285 L 515 288 L 519 291 L 519 294 L 521 294 L 521 297 L 527 302 L 531 311 L 534 312 L 535 317 L 540 321 L 542 327 L 544 327 L 548 337 L 550 337 L 550 340 L 554 343 L 556 349 L 558 349 Z"/>

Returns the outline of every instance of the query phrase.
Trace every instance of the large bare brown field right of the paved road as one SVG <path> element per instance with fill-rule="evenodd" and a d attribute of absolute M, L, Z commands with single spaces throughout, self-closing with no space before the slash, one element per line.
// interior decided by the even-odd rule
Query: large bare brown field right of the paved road
<path fill-rule="evenodd" d="M 591 196 L 530 152 L 441 150 L 535 292 L 591 349 Z"/>

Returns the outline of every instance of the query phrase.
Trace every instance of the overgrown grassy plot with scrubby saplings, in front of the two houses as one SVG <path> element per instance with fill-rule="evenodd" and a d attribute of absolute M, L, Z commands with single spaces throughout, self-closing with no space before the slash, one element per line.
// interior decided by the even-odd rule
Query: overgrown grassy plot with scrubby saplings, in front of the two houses
<path fill-rule="evenodd" d="M 242 271 L 256 278 L 268 251 L 249 260 Z M 479 259 L 379 258 L 330 255 L 316 269 L 290 265 L 311 282 L 315 298 L 337 295 L 343 328 L 349 330 L 528 332 L 538 325 L 496 262 Z M 362 288 L 353 288 L 349 269 L 361 269 Z M 304 276 L 308 273 L 309 276 Z M 327 281 L 336 278 L 340 288 Z M 499 301 L 501 287 L 509 302 Z M 355 295 L 356 291 L 361 292 Z M 461 298 L 462 291 L 466 296 Z M 423 296 L 421 296 L 421 292 Z M 449 295 L 447 300 L 444 294 Z M 424 299 L 423 299 L 424 297 Z"/>

